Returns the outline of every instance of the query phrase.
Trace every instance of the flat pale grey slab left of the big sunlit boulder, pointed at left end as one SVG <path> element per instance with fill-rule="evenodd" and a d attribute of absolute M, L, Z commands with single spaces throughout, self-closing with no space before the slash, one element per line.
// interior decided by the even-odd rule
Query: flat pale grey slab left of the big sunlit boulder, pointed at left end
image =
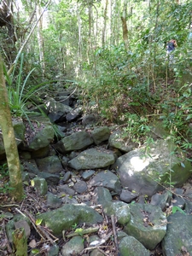
<path fill-rule="evenodd" d="M 113 162 L 114 155 L 112 152 L 90 148 L 81 152 L 73 160 L 70 160 L 69 166 L 79 171 L 84 169 L 104 168 L 112 165 Z"/>

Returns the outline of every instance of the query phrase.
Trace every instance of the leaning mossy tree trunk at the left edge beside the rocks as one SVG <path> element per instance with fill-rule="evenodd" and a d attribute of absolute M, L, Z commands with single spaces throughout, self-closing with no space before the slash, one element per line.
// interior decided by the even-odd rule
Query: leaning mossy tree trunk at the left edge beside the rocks
<path fill-rule="evenodd" d="M 0 126 L 3 133 L 3 143 L 9 167 L 10 195 L 15 201 L 21 201 L 24 196 L 20 159 L 15 141 L 15 131 L 9 109 L 8 92 L 3 75 L 3 61 L 0 55 Z"/>

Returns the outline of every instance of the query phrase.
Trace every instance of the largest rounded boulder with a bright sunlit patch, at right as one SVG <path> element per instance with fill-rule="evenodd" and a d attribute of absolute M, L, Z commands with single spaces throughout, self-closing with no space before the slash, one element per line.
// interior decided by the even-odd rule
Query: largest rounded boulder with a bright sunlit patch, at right
<path fill-rule="evenodd" d="M 154 195 L 164 186 L 181 186 L 191 175 L 191 165 L 170 140 L 158 140 L 120 156 L 113 165 L 122 186 L 143 195 Z"/>

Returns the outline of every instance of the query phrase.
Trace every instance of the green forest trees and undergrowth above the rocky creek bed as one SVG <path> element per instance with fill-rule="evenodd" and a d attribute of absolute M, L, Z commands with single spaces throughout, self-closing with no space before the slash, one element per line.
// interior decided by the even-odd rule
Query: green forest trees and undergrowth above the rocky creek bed
<path fill-rule="evenodd" d="M 157 115 L 183 131 L 191 114 L 183 96 L 190 90 L 183 77 L 191 70 L 191 9 L 189 0 L 3 0 L 0 49 L 9 85 L 18 74 L 29 88 L 75 83 L 84 107 L 103 119 L 139 126 Z M 166 45 L 173 39 L 171 61 Z"/>

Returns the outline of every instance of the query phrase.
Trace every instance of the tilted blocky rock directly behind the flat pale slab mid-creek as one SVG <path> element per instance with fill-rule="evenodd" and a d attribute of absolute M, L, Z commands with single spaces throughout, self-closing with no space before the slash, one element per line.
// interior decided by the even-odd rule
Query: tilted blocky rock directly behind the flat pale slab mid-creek
<path fill-rule="evenodd" d="M 78 131 L 74 132 L 72 135 L 62 138 L 61 141 L 55 144 L 55 149 L 61 154 L 66 154 L 73 150 L 87 148 L 92 143 L 93 139 L 90 137 L 88 132 Z"/>

